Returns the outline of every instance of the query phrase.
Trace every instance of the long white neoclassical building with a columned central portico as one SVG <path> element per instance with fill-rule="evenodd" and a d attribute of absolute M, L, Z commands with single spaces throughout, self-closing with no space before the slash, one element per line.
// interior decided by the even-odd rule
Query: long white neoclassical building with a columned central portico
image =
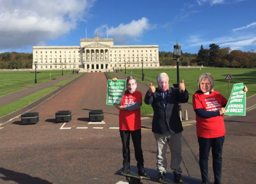
<path fill-rule="evenodd" d="M 80 46 L 33 46 L 33 69 L 106 72 L 158 68 L 158 45 L 115 46 L 113 38 L 80 39 Z"/>

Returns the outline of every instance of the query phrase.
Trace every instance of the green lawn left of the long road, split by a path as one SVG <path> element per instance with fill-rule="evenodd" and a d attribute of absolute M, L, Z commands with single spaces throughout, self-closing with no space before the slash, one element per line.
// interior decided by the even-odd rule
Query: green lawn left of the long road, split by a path
<path fill-rule="evenodd" d="M 72 74 L 72 70 L 63 70 L 63 75 Z M 5 116 L 15 110 L 18 110 L 35 100 L 41 98 L 42 96 L 52 92 L 53 90 L 57 89 L 58 86 L 64 85 L 74 78 L 82 75 L 80 73 L 78 75 L 73 75 L 66 80 L 63 80 L 56 84 L 56 86 L 45 88 L 41 91 L 38 91 L 34 94 L 26 96 L 20 100 L 12 102 L 10 104 L 4 105 L 0 107 L 0 117 Z M 52 80 L 53 78 L 60 78 L 62 77 L 62 71 L 37 71 L 36 79 L 37 84 L 47 82 Z M 0 72 L 0 96 L 5 94 L 10 94 L 12 92 L 16 92 L 18 90 L 22 90 L 26 88 L 25 86 L 32 86 L 36 85 L 35 82 L 35 73 L 34 71 L 12 71 L 12 72 Z"/>

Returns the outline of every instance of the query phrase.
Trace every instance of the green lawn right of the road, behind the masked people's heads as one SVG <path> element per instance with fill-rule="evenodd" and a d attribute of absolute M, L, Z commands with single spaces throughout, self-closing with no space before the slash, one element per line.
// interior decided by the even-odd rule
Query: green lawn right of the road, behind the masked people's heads
<path fill-rule="evenodd" d="M 132 75 L 136 77 L 138 82 L 143 82 L 149 84 L 153 82 L 153 85 L 157 87 L 156 84 L 156 76 L 161 72 L 165 72 L 168 74 L 170 80 L 170 86 L 172 84 L 177 83 L 177 70 L 176 68 L 168 68 L 168 69 L 148 69 L 144 70 L 145 80 L 141 81 L 142 70 L 126 70 L 126 74 Z M 247 88 L 248 92 L 246 96 L 252 96 L 256 94 L 256 69 L 248 69 L 248 68 L 180 68 L 180 82 L 184 79 L 184 84 L 188 93 L 193 95 L 197 90 L 198 78 L 201 74 L 205 72 L 210 72 L 210 74 L 214 78 L 214 90 L 219 91 L 223 96 L 227 99 L 229 98 L 228 94 L 228 80 L 225 80 L 227 74 L 232 75 L 232 80 L 230 80 L 230 92 L 232 90 L 233 84 L 243 82 Z M 149 81 L 148 81 L 149 80 Z"/>

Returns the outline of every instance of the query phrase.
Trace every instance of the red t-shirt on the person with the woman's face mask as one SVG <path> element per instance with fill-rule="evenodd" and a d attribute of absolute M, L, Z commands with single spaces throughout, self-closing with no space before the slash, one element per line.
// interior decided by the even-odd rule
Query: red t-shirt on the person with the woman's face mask
<path fill-rule="evenodd" d="M 194 110 L 203 108 L 207 111 L 217 111 L 228 100 L 219 92 L 213 91 L 211 94 L 195 93 L 193 95 Z M 223 115 L 211 118 L 201 118 L 196 115 L 196 134 L 204 138 L 216 138 L 224 136 L 226 133 Z"/>

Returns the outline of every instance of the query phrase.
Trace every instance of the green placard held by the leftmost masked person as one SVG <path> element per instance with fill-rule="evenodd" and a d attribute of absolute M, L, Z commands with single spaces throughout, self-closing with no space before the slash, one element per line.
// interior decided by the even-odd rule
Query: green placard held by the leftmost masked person
<path fill-rule="evenodd" d="M 126 80 L 108 80 L 107 105 L 121 105 L 126 87 Z"/>

